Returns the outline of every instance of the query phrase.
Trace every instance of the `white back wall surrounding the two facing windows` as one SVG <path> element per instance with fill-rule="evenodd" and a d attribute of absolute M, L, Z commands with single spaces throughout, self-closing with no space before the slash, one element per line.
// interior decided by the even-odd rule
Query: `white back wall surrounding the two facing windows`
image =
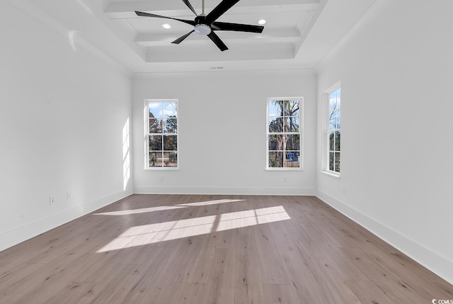
<path fill-rule="evenodd" d="M 134 191 L 316 193 L 316 77 L 311 74 L 207 72 L 135 76 Z M 289 96 L 304 96 L 305 170 L 266 171 L 266 98 Z M 143 110 L 144 99 L 149 98 L 179 100 L 177 171 L 144 169 Z"/>

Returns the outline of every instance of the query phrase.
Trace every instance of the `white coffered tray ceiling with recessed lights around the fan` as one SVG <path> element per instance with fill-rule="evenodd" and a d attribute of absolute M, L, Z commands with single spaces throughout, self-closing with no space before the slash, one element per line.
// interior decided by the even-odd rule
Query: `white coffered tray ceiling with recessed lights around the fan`
<path fill-rule="evenodd" d="M 8 0 L 10 1 L 10 0 Z M 143 11 L 193 21 L 182 0 L 11 0 L 19 9 L 57 28 L 76 48 L 96 50 L 131 72 L 188 72 L 313 68 L 375 0 L 241 0 L 217 21 L 258 25 L 263 33 L 216 31 L 229 47 L 220 51 L 193 26 Z M 205 0 L 208 14 L 221 0 Z M 202 0 L 191 0 L 202 13 Z M 162 26 L 168 23 L 171 28 Z"/>

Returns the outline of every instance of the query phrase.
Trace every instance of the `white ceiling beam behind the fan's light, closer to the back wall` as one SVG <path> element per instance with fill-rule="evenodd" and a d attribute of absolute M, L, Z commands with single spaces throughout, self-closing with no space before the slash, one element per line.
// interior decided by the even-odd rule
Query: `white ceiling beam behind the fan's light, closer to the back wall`
<path fill-rule="evenodd" d="M 217 32 L 219 37 L 222 38 L 226 44 L 247 44 L 247 43 L 298 43 L 300 40 L 300 33 L 298 30 L 265 30 L 261 34 L 256 33 L 231 33 L 231 32 Z M 157 45 L 170 45 L 172 41 L 176 40 L 185 33 L 176 34 L 142 34 L 139 35 L 134 42 L 142 47 L 152 47 Z M 202 35 L 193 33 L 183 44 L 185 45 L 206 45 L 211 44 L 212 41 Z"/>

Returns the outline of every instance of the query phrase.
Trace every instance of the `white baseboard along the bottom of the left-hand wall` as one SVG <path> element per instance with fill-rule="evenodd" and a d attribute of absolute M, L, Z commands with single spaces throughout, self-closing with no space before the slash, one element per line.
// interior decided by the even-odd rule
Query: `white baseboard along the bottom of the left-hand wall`
<path fill-rule="evenodd" d="M 98 198 L 91 202 L 75 206 L 47 218 L 42 218 L 41 220 L 37 220 L 33 223 L 29 223 L 14 230 L 5 232 L 0 235 L 0 251 L 52 230 L 55 227 L 69 223 L 71 220 L 80 218 L 83 215 L 91 213 L 94 210 L 107 206 L 115 201 L 119 201 L 120 199 L 132 194 L 132 188 L 126 189 L 125 191 L 120 191 L 110 194 L 109 196 L 104 196 L 103 198 Z"/>

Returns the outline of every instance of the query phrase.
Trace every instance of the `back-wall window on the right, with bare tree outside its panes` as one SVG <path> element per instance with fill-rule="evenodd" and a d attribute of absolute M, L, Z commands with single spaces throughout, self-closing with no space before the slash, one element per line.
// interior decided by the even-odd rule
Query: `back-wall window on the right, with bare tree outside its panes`
<path fill-rule="evenodd" d="M 268 98 L 268 169 L 302 169 L 302 98 Z"/>

